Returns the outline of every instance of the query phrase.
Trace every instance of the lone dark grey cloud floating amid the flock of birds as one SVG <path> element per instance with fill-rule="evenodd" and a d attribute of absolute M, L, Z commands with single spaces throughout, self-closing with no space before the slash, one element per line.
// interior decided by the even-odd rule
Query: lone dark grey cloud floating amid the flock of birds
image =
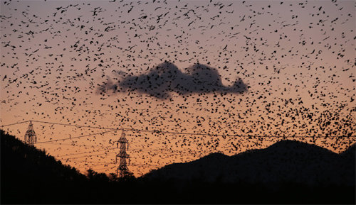
<path fill-rule="evenodd" d="M 212 67 L 196 64 L 188 67 L 183 73 L 171 62 L 163 62 L 147 74 L 125 74 L 117 82 L 108 80 L 100 87 L 101 92 L 139 92 L 158 99 L 169 98 L 170 92 L 180 95 L 211 92 L 241 94 L 247 89 L 241 79 L 237 79 L 233 86 L 225 87 L 221 83 L 219 72 Z"/>

